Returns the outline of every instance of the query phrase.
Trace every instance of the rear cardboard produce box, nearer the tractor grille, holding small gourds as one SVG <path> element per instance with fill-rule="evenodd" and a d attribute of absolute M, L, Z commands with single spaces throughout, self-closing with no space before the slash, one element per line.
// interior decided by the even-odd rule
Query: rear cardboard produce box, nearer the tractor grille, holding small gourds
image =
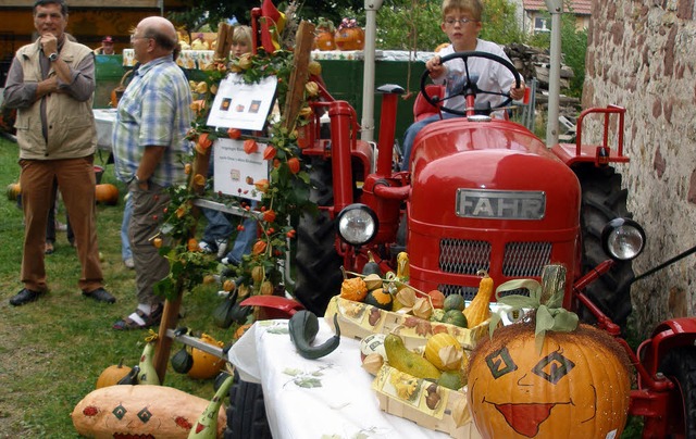
<path fill-rule="evenodd" d="M 471 329 L 439 322 L 430 322 L 409 314 L 380 310 L 362 302 L 343 299 L 339 296 L 328 302 L 324 318 L 334 328 L 334 315 L 338 315 L 340 335 L 361 340 L 370 334 L 398 334 L 408 349 L 420 348 L 427 338 L 438 333 L 449 333 L 467 350 L 488 335 L 488 321 Z"/>

